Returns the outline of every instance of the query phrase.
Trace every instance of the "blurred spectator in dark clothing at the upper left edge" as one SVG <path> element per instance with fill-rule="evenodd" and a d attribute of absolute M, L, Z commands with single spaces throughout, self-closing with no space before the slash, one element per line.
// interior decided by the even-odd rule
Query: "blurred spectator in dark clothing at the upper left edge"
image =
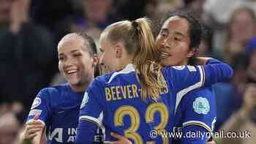
<path fill-rule="evenodd" d="M 29 20 L 29 0 L 0 0 L 0 103 L 30 107 L 55 72 L 53 38 Z"/>

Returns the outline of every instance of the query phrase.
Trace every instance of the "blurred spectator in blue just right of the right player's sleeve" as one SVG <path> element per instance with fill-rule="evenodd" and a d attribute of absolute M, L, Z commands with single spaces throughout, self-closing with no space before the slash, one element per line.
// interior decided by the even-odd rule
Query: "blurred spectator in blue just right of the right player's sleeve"
<path fill-rule="evenodd" d="M 217 104 L 216 129 L 230 118 L 241 106 L 244 86 L 246 85 L 246 58 L 237 56 L 233 66 L 234 76 L 231 83 L 217 83 L 213 86 Z"/>

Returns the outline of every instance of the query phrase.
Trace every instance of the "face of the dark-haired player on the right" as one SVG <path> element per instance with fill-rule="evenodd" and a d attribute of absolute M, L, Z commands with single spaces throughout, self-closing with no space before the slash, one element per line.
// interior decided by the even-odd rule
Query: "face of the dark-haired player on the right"
<path fill-rule="evenodd" d="M 194 54 L 189 49 L 189 23 L 185 18 L 173 16 L 165 20 L 156 42 L 157 47 L 167 54 L 161 60 L 164 66 L 187 65 L 189 58 Z"/>

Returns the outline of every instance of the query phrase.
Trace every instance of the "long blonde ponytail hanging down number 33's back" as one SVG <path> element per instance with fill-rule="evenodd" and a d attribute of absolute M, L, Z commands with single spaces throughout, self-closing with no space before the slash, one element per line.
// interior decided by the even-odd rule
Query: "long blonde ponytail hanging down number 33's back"
<path fill-rule="evenodd" d="M 154 36 L 146 18 L 132 21 L 132 26 L 137 31 L 139 40 L 140 50 L 135 54 L 133 64 L 140 77 L 141 97 L 146 100 L 149 96 L 157 101 L 162 88 L 166 88 L 162 67 L 156 63 L 159 61 L 159 50 L 155 46 Z"/>

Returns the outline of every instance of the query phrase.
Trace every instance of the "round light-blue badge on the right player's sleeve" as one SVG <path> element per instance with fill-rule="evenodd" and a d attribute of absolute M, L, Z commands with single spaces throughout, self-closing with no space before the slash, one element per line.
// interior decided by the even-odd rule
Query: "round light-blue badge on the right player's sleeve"
<path fill-rule="evenodd" d="M 210 111 L 210 105 L 206 98 L 197 97 L 193 102 L 195 113 L 206 115 Z"/>

